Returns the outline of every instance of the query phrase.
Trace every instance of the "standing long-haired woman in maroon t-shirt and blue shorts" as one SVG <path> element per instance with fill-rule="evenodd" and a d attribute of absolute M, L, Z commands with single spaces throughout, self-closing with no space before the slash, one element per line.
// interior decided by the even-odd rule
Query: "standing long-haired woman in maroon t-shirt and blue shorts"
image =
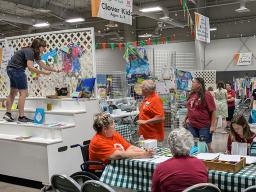
<path fill-rule="evenodd" d="M 192 81 L 187 109 L 185 125 L 188 125 L 194 137 L 204 137 L 209 152 L 212 152 L 212 133 L 216 130 L 216 106 L 211 93 L 205 90 L 204 79 L 201 77 Z"/>

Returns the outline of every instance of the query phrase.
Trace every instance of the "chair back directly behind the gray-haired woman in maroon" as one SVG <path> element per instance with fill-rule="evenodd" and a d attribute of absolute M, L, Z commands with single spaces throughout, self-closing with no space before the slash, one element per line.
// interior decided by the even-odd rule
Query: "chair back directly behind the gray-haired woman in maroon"
<path fill-rule="evenodd" d="M 220 189 L 211 183 L 198 183 L 188 187 L 183 192 L 221 192 Z"/>

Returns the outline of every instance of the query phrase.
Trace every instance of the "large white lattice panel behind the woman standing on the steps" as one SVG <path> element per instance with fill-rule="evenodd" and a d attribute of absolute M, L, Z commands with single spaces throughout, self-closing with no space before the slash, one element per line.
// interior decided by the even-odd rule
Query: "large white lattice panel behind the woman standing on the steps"
<path fill-rule="evenodd" d="M 28 77 L 29 95 L 46 96 L 55 94 L 55 87 L 68 86 L 70 91 L 76 89 L 77 80 L 81 77 L 96 77 L 95 67 L 95 37 L 93 28 L 81 28 L 74 30 L 54 31 L 47 33 L 36 33 L 24 36 L 8 37 L 0 41 L 0 47 L 11 47 L 14 51 L 22 47 L 29 46 L 34 38 L 43 38 L 48 45 L 48 49 L 57 48 L 58 50 L 69 43 L 79 44 L 84 49 L 84 54 L 79 58 L 81 70 L 77 74 L 67 73 L 51 73 L 49 76 L 40 76 L 38 80 L 32 78 L 29 70 L 26 70 Z M 1 46 L 2 45 L 2 46 Z M 61 52 L 58 51 L 57 63 L 54 68 L 63 68 Z M 9 78 L 6 75 L 6 66 L 2 66 L 0 70 L 0 97 L 5 97 L 9 94 Z"/>

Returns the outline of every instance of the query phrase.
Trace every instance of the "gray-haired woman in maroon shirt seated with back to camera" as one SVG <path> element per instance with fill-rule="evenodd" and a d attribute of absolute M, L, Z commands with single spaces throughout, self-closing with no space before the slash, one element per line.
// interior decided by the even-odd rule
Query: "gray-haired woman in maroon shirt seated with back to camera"
<path fill-rule="evenodd" d="M 190 157 L 193 136 L 184 128 L 173 130 L 168 136 L 173 158 L 160 163 L 153 174 L 152 192 L 181 192 L 197 184 L 208 182 L 203 161 Z"/>

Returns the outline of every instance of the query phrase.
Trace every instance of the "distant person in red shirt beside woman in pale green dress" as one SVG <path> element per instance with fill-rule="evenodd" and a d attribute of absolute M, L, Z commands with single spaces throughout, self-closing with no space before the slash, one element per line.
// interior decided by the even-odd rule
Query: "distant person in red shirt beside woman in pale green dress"
<path fill-rule="evenodd" d="M 227 95 L 228 95 L 228 117 L 226 118 L 228 127 L 230 127 L 230 122 L 233 118 L 235 111 L 235 98 L 236 92 L 231 89 L 231 83 L 226 83 Z"/>

